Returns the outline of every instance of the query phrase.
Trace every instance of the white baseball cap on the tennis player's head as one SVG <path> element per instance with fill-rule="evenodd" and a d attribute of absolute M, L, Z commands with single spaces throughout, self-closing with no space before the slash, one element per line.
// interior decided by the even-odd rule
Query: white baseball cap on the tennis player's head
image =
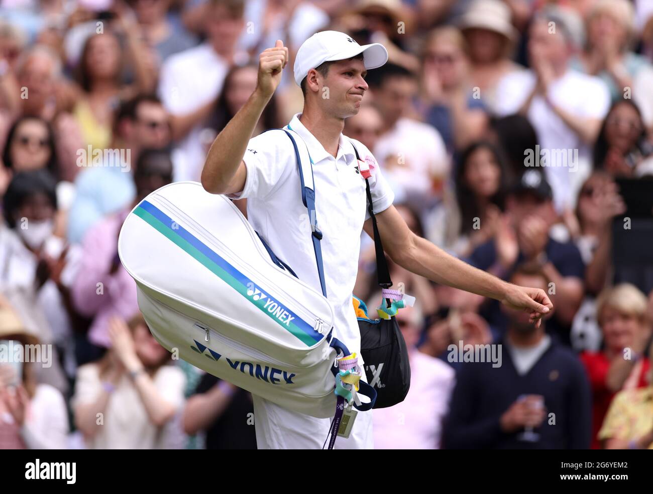
<path fill-rule="evenodd" d="M 340 31 L 320 31 L 302 43 L 295 57 L 295 82 L 302 85 L 311 68 L 324 62 L 347 60 L 363 54 L 365 68 L 377 68 L 388 61 L 388 50 L 381 43 L 358 44 Z"/>

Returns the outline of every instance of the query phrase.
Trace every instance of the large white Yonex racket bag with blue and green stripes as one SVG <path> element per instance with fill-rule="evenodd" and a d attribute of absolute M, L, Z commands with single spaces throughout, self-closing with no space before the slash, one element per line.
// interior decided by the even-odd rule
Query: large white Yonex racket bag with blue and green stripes
<path fill-rule="evenodd" d="M 164 186 L 131 211 L 118 253 L 168 351 L 283 407 L 333 416 L 333 308 L 229 199 L 197 182 Z"/>

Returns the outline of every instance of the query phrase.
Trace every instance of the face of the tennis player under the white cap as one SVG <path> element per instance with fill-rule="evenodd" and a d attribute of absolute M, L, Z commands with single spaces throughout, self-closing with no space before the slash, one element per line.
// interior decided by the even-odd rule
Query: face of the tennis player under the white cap
<path fill-rule="evenodd" d="M 330 65 L 319 95 L 327 112 L 342 119 L 356 115 L 368 90 L 366 76 L 362 60 L 342 60 Z"/>

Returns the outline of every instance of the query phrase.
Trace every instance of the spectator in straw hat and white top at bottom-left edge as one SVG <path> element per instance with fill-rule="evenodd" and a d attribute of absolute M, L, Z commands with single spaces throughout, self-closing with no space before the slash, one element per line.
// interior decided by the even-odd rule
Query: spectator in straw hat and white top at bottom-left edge
<path fill-rule="evenodd" d="M 0 344 L 6 346 L 5 355 L 16 355 L 16 347 L 22 346 L 22 355 L 30 357 L 31 345 L 39 345 L 4 297 L 0 297 Z M 0 450 L 66 448 L 66 403 L 59 390 L 37 382 L 35 368 L 44 365 L 27 358 L 0 363 Z"/>

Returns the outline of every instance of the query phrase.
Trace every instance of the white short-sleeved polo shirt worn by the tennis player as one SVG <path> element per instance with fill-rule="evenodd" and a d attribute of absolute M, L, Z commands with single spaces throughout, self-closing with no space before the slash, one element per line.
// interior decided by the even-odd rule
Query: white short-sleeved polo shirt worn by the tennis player
<path fill-rule="evenodd" d="M 370 164 L 374 213 L 390 207 L 394 194 L 367 147 L 340 134 L 338 156 L 334 158 L 299 121 L 300 115 L 293 117 L 289 127 L 304 140 L 313 160 L 315 215 L 324 235 L 320 243 L 327 298 L 336 314 L 334 335 L 349 351 L 360 355 L 360 332 L 351 296 L 358 271 L 360 233 L 369 214 L 365 181 L 355 169 L 352 143 L 360 158 Z M 297 145 L 304 144 L 298 141 Z M 300 280 L 321 292 L 293 144 L 281 130 L 270 130 L 249 140 L 243 160 L 247 167 L 244 190 L 227 197 L 247 198 L 249 223 Z"/>

